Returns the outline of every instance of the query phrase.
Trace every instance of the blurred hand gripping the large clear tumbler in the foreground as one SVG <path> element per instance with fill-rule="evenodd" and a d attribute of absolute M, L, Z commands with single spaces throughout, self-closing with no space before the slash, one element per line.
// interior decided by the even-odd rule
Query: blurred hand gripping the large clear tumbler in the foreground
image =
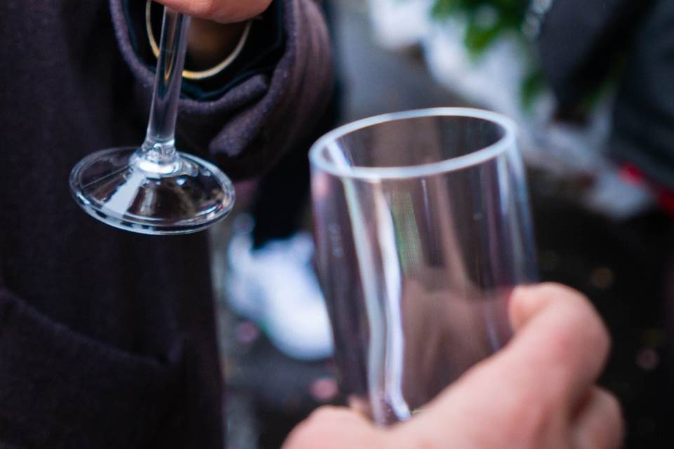
<path fill-rule="evenodd" d="M 357 413 L 322 408 L 284 449 L 612 449 L 620 406 L 595 386 L 609 350 L 585 297 L 551 284 L 517 288 L 515 337 L 468 370 L 409 422 L 378 429 Z"/>

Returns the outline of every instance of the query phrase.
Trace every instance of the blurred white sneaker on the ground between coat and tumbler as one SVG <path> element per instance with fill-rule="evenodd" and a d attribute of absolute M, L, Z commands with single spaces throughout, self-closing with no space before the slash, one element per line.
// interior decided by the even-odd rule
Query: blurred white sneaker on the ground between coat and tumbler
<path fill-rule="evenodd" d="M 332 332 L 311 264 L 313 241 L 300 232 L 253 250 L 250 232 L 227 250 L 227 298 L 238 314 L 263 328 L 272 344 L 300 360 L 332 354 Z"/>

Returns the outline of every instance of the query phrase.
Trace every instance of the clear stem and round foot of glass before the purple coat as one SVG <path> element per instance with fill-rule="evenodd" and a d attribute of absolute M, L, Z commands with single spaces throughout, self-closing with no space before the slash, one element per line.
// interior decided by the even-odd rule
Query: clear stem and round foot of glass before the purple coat
<path fill-rule="evenodd" d="M 213 164 L 178 152 L 175 143 L 189 16 L 164 8 L 150 121 L 140 147 L 106 149 L 70 173 L 86 213 L 140 234 L 189 234 L 222 220 L 234 187 Z"/>

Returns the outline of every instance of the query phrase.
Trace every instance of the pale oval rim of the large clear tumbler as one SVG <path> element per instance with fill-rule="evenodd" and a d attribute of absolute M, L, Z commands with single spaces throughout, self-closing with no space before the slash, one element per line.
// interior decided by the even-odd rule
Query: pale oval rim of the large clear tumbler
<path fill-rule="evenodd" d="M 431 116 L 446 116 L 446 117 L 470 117 L 474 119 L 483 119 L 496 123 L 501 126 L 505 133 L 503 136 L 487 147 L 477 149 L 474 152 L 463 154 L 442 161 L 421 163 L 414 166 L 399 166 L 399 167 L 364 167 L 364 166 L 349 166 L 344 167 L 338 163 L 329 161 L 324 155 L 324 149 L 329 146 L 330 142 L 335 142 L 338 138 L 353 133 L 357 130 L 369 128 L 370 126 L 385 123 L 387 121 L 397 121 L 406 119 L 418 119 L 421 117 Z M 360 180 L 382 180 L 382 179 L 400 179 L 410 177 L 421 177 L 429 175 L 437 175 L 440 173 L 447 173 L 456 170 L 463 170 L 464 168 L 480 165 L 490 159 L 494 159 L 508 148 L 517 145 L 515 135 L 517 133 L 517 125 L 512 119 L 507 116 L 498 114 L 497 112 L 486 111 L 484 109 L 475 109 L 470 107 L 434 107 L 428 109 L 412 109 L 402 112 L 391 112 L 388 114 L 381 114 L 371 116 L 366 119 L 360 119 L 340 126 L 329 133 L 319 138 L 317 142 L 312 145 L 309 150 L 309 159 L 312 166 L 320 170 L 330 173 L 331 175 Z"/>

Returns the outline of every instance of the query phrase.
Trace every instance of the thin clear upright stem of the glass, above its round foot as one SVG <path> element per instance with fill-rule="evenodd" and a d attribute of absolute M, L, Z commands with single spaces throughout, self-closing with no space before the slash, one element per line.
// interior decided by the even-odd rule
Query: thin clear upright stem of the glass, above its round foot
<path fill-rule="evenodd" d="M 189 28 L 189 16 L 164 8 L 150 122 L 147 124 L 145 142 L 140 147 L 143 158 L 154 163 L 169 164 L 178 159 L 175 145 L 176 118 Z"/>

